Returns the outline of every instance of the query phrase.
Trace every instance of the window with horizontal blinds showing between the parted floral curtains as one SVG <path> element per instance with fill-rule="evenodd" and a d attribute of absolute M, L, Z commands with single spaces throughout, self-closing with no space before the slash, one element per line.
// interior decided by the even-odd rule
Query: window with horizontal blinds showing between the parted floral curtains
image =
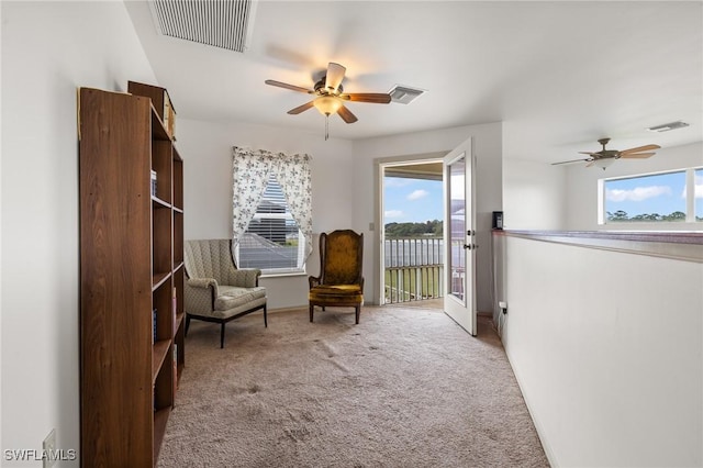
<path fill-rule="evenodd" d="M 304 243 L 283 190 L 276 176 L 270 175 L 256 214 L 239 239 L 237 266 L 260 268 L 269 274 L 301 271 Z"/>

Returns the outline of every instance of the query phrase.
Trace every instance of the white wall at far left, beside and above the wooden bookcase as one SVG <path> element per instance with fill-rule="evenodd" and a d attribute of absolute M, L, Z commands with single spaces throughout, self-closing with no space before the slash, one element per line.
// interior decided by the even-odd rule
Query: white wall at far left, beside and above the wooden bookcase
<path fill-rule="evenodd" d="M 155 77 L 122 2 L 0 8 L 1 445 L 41 449 L 55 427 L 57 448 L 78 449 L 76 89 L 125 91 Z M 4 453 L 2 463 L 18 466 Z"/>

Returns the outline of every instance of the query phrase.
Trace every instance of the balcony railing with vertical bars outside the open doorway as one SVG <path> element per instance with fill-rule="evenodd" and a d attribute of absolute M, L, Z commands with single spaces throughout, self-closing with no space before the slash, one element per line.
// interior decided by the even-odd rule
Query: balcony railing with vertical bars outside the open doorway
<path fill-rule="evenodd" d="M 395 237 L 384 243 L 386 303 L 444 296 L 442 237 Z"/>

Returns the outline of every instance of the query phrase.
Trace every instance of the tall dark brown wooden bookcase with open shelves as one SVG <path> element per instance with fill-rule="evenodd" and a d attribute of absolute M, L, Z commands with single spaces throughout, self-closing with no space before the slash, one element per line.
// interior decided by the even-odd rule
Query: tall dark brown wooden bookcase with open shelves
<path fill-rule="evenodd" d="M 183 164 L 136 93 L 79 89 L 83 467 L 156 465 L 185 363 Z"/>

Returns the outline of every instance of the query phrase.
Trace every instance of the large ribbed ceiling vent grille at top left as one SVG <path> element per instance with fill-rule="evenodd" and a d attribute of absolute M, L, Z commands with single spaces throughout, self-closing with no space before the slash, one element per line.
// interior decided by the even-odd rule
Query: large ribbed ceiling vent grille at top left
<path fill-rule="evenodd" d="M 244 53 L 256 0 L 150 0 L 160 34 Z"/>

